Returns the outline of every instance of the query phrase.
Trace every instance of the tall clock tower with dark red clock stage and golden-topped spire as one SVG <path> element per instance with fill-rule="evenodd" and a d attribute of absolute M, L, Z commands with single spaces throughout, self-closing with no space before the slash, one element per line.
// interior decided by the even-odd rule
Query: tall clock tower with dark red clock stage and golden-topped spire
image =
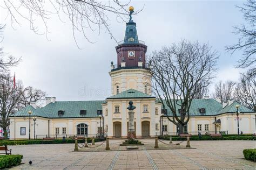
<path fill-rule="evenodd" d="M 151 94 L 151 76 L 147 72 L 144 41 L 138 39 L 136 23 L 132 20 L 133 7 L 130 6 L 130 20 L 126 23 L 124 40 L 116 46 L 117 65 L 111 62 L 112 95 L 135 89 Z"/>

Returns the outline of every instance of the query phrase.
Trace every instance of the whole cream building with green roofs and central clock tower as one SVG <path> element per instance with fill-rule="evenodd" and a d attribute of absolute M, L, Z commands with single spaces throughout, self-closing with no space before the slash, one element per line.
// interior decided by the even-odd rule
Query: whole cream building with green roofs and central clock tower
<path fill-rule="evenodd" d="M 100 133 L 109 138 L 127 138 L 129 101 L 136 107 L 137 138 L 177 134 L 177 126 L 167 119 L 171 111 L 163 111 L 162 104 L 151 94 L 147 46 L 138 39 L 136 23 L 131 19 L 126 23 L 125 38 L 118 43 L 116 52 L 117 65 L 111 62 L 109 72 L 112 96 L 104 101 L 56 101 L 55 97 L 46 97 L 43 108 L 32 102 L 10 116 L 10 138 L 29 138 L 29 134 L 31 138 L 92 137 Z M 256 113 L 240 105 L 237 118 L 234 114 L 237 104 L 232 101 L 221 104 L 219 98 L 193 100 L 185 132 L 237 133 L 239 121 L 242 133 L 255 133 Z"/>

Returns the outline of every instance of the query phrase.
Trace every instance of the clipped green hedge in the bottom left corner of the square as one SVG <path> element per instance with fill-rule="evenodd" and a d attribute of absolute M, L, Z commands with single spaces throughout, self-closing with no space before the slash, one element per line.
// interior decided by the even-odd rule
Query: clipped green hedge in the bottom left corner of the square
<path fill-rule="evenodd" d="M 10 168 L 21 164 L 22 158 L 23 155 L 20 154 L 0 155 L 0 169 Z"/>

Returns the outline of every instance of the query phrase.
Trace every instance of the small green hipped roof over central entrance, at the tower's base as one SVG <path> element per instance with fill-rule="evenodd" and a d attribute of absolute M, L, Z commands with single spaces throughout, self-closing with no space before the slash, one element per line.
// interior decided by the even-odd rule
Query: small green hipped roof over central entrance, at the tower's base
<path fill-rule="evenodd" d="M 113 99 L 113 98 L 156 98 L 156 97 L 142 93 L 138 90 L 129 89 L 117 95 L 107 97 L 107 99 Z"/>

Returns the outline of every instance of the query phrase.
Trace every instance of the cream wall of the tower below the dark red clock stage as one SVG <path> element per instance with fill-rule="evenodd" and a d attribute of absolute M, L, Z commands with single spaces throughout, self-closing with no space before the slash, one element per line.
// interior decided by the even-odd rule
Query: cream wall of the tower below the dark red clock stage
<path fill-rule="evenodd" d="M 146 73 L 145 69 L 120 69 L 109 72 L 111 76 L 112 95 L 117 94 L 117 86 L 119 93 L 129 89 L 135 89 L 145 93 L 145 85 L 151 85 L 151 76 Z M 151 95 L 151 87 L 147 86 L 147 94 Z"/>

